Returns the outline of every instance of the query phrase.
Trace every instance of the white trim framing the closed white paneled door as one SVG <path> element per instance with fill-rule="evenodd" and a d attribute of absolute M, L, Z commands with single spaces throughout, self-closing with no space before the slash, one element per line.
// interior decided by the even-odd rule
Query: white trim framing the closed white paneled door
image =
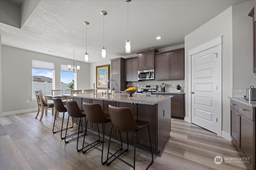
<path fill-rule="evenodd" d="M 215 46 L 219 46 L 220 51 L 222 51 L 222 36 L 216 37 L 215 39 L 212 39 L 206 43 L 203 43 L 201 45 L 198 45 L 197 47 L 194 47 L 190 50 L 188 50 L 188 117 L 185 117 L 185 121 L 188 121 L 189 123 L 192 122 L 192 98 L 191 98 L 191 88 L 192 88 L 192 84 L 191 84 L 191 76 L 192 76 L 192 72 L 191 72 L 191 57 L 192 55 L 199 53 L 200 51 L 204 51 L 206 49 L 210 49 L 212 47 Z M 218 57 L 222 58 L 222 54 L 219 54 Z M 222 92 L 221 92 L 222 94 Z M 222 101 L 221 101 L 222 102 Z M 222 108 L 220 113 L 217 113 L 217 117 L 218 117 L 218 122 L 217 122 L 217 135 L 218 136 L 222 136 Z"/>

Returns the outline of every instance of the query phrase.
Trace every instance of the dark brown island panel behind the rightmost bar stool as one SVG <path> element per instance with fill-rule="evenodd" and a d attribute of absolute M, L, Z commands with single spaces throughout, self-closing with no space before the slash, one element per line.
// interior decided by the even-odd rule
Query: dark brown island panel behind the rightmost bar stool
<path fill-rule="evenodd" d="M 145 104 L 138 104 L 137 105 L 137 119 L 141 121 L 147 121 L 150 123 L 150 137 L 151 137 L 151 144 L 152 150 L 154 153 L 158 152 L 157 147 L 157 104 L 155 105 L 145 105 Z M 138 131 L 137 135 L 137 143 L 141 145 L 146 145 L 150 147 L 150 141 L 148 137 L 148 127 L 142 128 Z"/>

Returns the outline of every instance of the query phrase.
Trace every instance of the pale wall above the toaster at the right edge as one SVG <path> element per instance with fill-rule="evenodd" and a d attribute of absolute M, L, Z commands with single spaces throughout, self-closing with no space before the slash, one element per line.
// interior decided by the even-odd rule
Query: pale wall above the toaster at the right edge
<path fill-rule="evenodd" d="M 256 88 L 252 71 L 252 17 L 253 0 L 232 7 L 233 89 Z M 237 90 L 236 90 L 237 91 Z M 234 91 L 234 92 L 236 92 Z M 234 96 L 233 92 L 233 96 Z"/>

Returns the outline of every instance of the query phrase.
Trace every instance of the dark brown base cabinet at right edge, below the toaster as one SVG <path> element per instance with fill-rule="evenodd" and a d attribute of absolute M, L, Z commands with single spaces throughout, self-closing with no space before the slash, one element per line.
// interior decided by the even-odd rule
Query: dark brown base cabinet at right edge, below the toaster
<path fill-rule="evenodd" d="M 249 157 L 246 168 L 255 170 L 255 107 L 230 100 L 230 137 L 241 157 Z"/>

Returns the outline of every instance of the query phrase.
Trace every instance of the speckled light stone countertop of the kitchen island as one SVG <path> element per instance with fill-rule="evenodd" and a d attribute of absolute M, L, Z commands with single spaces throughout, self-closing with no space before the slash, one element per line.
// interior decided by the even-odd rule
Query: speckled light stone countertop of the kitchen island
<path fill-rule="evenodd" d="M 63 96 L 69 96 L 74 98 L 86 98 L 86 99 L 98 99 L 98 100 L 108 100 L 115 102 L 126 102 L 133 104 L 147 104 L 147 105 L 155 105 L 158 104 L 168 98 L 172 98 L 172 96 L 162 96 L 162 95 L 154 95 L 154 94 L 132 94 L 132 97 L 128 97 L 128 94 L 115 94 L 108 96 L 106 94 L 97 93 L 97 94 L 63 94 Z"/>

